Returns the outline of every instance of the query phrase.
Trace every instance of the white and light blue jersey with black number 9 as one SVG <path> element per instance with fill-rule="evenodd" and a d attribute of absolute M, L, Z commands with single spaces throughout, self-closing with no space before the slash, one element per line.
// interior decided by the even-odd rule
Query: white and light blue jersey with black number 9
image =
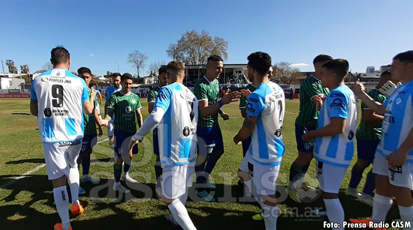
<path fill-rule="evenodd" d="M 83 138 L 83 103 L 89 100 L 85 81 L 68 70 L 55 68 L 37 76 L 30 89 L 37 100 L 37 123 L 42 142 Z"/>

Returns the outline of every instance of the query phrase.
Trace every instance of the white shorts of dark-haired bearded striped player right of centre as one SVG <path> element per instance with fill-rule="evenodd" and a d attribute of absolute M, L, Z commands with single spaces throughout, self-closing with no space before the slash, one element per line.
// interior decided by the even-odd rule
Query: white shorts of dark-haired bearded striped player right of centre
<path fill-rule="evenodd" d="M 240 170 L 250 174 L 254 183 L 257 194 L 275 195 L 276 181 L 280 171 L 281 164 L 263 165 L 251 159 L 249 153 L 245 154 L 241 162 Z"/>

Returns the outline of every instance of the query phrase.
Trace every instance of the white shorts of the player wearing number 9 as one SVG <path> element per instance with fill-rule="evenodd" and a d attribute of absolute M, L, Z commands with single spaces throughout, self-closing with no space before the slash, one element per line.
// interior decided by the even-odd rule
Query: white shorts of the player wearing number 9
<path fill-rule="evenodd" d="M 82 140 L 72 142 L 43 143 L 47 177 L 54 180 L 69 176 L 70 168 L 77 168 L 77 158 Z"/>

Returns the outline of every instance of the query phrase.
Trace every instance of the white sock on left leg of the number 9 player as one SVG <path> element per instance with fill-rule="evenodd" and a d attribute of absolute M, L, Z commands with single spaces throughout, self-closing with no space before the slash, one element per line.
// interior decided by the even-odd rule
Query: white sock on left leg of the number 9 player
<path fill-rule="evenodd" d="M 77 191 L 79 193 L 79 191 Z M 60 219 L 62 220 L 63 230 L 68 230 L 70 228 L 70 218 L 69 218 L 69 195 L 66 189 L 66 185 L 53 189 L 54 203 L 56 203 L 57 213 L 59 213 Z"/>

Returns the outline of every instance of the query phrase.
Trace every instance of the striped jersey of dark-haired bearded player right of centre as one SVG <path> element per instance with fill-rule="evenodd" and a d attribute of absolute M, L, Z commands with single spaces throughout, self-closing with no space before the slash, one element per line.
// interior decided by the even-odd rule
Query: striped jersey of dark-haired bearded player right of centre
<path fill-rule="evenodd" d="M 264 165 L 281 163 L 285 152 L 281 129 L 284 122 L 284 90 L 274 82 L 261 83 L 246 105 L 250 117 L 258 117 L 248 149 L 252 159 Z"/>

